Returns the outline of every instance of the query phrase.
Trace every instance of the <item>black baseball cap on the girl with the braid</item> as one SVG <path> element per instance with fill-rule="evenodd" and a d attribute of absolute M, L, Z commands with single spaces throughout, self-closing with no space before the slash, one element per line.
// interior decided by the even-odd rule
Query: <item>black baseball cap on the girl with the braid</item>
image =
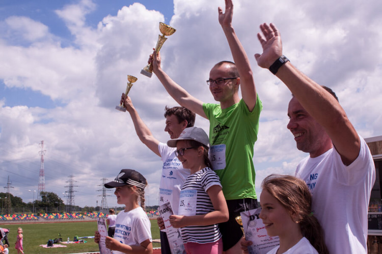
<path fill-rule="evenodd" d="M 122 169 L 121 172 L 117 175 L 114 181 L 105 183 L 106 188 L 115 188 L 121 187 L 124 185 L 134 185 L 141 189 L 145 189 L 147 185 L 146 178 L 133 169 Z"/>

